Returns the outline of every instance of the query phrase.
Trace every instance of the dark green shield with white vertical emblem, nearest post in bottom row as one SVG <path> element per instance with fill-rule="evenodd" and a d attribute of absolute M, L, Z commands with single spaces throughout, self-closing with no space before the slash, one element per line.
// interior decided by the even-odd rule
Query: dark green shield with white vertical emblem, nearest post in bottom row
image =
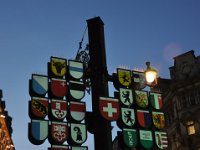
<path fill-rule="evenodd" d="M 129 148 L 136 147 L 138 144 L 136 130 L 123 128 L 122 132 L 123 132 L 124 144 Z"/>

